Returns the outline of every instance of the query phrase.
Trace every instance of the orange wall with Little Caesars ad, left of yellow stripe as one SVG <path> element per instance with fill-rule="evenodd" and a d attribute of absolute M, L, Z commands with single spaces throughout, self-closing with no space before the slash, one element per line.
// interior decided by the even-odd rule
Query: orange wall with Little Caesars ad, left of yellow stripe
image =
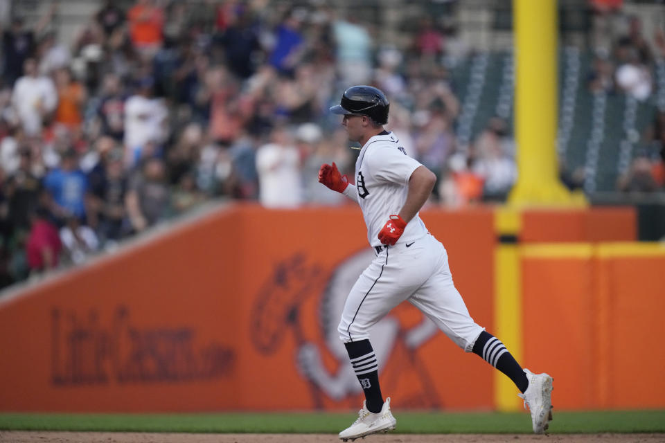
<path fill-rule="evenodd" d="M 423 217 L 491 329 L 493 213 Z M 231 206 L 0 298 L 0 410 L 357 408 L 335 329 L 373 257 L 365 235 L 353 207 Z M 493 369 L 411 305 L 372 340 L 396 408 L 493 406 Z"/>

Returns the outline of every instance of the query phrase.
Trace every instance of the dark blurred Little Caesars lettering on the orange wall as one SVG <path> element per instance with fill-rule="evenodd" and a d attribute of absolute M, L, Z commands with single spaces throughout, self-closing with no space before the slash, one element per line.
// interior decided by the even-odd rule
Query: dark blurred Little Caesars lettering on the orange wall
<path fill-rule="evenodd" d="M 130 309 L 116 307 L 103 325 L 98 309 L 80 315 L 51 310 L 51 381 L 56 386 L 186 382 L 230 377 L 236 350 L 196 345 L 193 327 L 136 327 Z"/>

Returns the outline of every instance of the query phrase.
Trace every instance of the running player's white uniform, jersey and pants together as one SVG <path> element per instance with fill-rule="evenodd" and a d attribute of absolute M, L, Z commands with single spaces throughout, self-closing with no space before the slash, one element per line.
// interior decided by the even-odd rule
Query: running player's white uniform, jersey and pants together
<path fill-rule="evenodd" d="M 390 132 L 373 136 L 360 151 L 356 186 L 347 186 L 344 195 L 360 204 L 376 257 L 348 294 L 337 332 L 343 342 L 369 338 L 375 323 L 408 300 L 456 345 L 471 352 L 484 328 L 471 318 L 455 288 L 443 244 L 427 232 L 418 214 L 394 246 L 378 239 L 389 216 L 404 206 L 409 179 L 419 166 Z"/>

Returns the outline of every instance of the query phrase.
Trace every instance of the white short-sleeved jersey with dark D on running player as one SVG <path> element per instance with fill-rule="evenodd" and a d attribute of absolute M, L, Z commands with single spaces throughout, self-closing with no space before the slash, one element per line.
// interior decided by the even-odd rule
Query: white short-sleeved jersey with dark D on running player
<path fill-rule="evenodd" d="M 355 162 L 355 186 L 348 186 L 344 194 L 360 204 L 371 246 L 381 246 L 379 232 L 389 216 L 398 214 L 404 206 L 409 179 L 419 166 L 418 161 L 407 156 L 399 139 L 391 132 L 373 136 L 360 150 Z M 412 242 L 426 234 L 427 228 L 416 213 L 398 244 Z"/>

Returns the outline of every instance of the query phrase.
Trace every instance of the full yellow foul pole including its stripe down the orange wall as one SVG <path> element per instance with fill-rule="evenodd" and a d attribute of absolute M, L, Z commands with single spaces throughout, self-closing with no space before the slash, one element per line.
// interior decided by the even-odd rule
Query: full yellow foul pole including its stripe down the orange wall
<path fill-rule="evenodd" d="M 513 0 L 515 35 L 515 132 L 519 177 L 508 206 L 495 211 L 500 242 L 495 251 L 495 331 L 518 363 L 522 355 L 520 288 L 521 210 L 525 206 L 584 204 L 558 179 L 557 1 Z M 513 382 L 495 374 L 497 410 L 522 408 Z"/>

